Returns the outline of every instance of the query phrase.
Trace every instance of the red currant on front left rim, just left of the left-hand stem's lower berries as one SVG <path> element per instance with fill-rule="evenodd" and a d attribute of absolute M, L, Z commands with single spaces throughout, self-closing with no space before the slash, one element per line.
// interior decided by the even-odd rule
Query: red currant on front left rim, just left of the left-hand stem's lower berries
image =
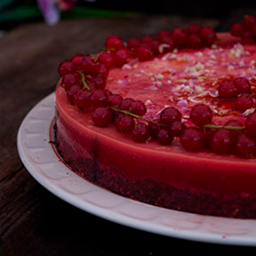
<path fill-rule="evenodd" d="M 108 126 L 112 123 L 112 112 L 108 108 L 101 106 L 93 111 L 92 120 L 96 126 Z"/>

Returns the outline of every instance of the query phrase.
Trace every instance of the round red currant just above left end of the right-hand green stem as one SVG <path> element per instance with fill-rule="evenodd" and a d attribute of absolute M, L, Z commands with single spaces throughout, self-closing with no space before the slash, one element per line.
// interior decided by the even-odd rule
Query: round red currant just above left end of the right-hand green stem
<path fill-rule="evenodd" d="M 212 111 L 205 104 L 196 104 L 190 111 L 190 118 L 195 125 L 203 127 L 211 122 Z"/>

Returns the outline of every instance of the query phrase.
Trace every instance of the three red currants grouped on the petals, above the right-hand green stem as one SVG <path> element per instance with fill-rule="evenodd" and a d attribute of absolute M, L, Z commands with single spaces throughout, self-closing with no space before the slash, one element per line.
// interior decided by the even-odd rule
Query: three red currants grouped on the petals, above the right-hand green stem
<path fill-rule="evenodd" d="M 251 83 L 244 77 L 222 81 L 218 87 L 219 97 L 224 100 L 236 100 L 234 108 L 244 112 L 253 107 Z"/>

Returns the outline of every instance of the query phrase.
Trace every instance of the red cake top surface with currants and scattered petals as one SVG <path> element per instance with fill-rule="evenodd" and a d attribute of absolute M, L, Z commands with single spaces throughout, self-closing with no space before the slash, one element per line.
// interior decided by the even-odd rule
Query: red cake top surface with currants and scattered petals
<path fill-rule="evenodd" d="M 61 83 L 77 111 L 92 112 L 94 125 L 114 122 L 137 142 L 169 145 L 177 137 L 187 151 L 254 158 L 256 47 L 248 42 L 256 19 L 240 26 L 231 27 L 237 38 L 198 25 L 126 44 L 111 35 L 107 51 L 62 61 Z"/>

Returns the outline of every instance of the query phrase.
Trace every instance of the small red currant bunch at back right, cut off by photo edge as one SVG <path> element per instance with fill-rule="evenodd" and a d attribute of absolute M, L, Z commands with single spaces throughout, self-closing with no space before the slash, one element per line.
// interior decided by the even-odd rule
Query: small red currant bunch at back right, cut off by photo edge
<path fill-rule="evenodd" d="M 230 28 L 233 36 L 241 37 L 245 44 L 253 44 L 256 41 L 256 17 L 247 15 L 243 23 L 234 23 Z"/>

